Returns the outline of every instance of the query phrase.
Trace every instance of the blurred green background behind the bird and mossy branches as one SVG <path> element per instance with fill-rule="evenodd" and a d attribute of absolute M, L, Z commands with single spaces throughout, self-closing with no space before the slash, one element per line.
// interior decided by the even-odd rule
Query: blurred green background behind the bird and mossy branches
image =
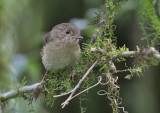
<path fill-rule="evenodd" d="M 0 0 L 0 93 L 7 92 L 26 76 L 27 85 L 39 82 L 45 69 L 40 52 L 42 36 L 53 26 L 63 22 L 76 24 L 86 39 L 92 36 L 95 12 L 104 0 Z M 139 28 L 137 4 L 134 0 L 124 2 L 117 10 L 115 35 L 118 46 L 126 44 L 130 50 L 136 45 L 143 47 Z M 130 63 L 129 61 L 129 64 Z M 124 67 L 117 64 L 118 69 Z M 119 74 L 118 84 L 123 106 L 129 113 L 160 113 L 159 67 L 146 70 L 144 77 L 124 79 Z M 96 87 L 85 96 L 82 105 L 86 113 L 112 113 L 109 100 L 98 96 Z M 79 97 L 64 109 L 60 104 L 66 97 L 56 100 L 54 106 L 46 106 L 43 98 L 28 105 L 22 98 L 11 99 L 3 113 L 80 113 Z"/>

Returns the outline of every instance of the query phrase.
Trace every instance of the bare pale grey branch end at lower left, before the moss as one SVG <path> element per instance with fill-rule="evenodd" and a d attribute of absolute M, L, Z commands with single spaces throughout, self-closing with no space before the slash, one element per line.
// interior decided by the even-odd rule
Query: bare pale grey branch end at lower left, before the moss
<path fill-rule="evenodd" d="M 36 84 L 30 85 L 30 86 L 24 86 L 18 90 L 12 90 L 7 93 L 1 94 L 0 101 L 5 101 L 8 99 L 17 97 L 21 93 L 31 92 L 31 91 L 35 90 L 36 88 L 41 88 L 41 87 L 39 87 L 40 85 L 41 85 L 41 83 L 36 83 Z"/>

